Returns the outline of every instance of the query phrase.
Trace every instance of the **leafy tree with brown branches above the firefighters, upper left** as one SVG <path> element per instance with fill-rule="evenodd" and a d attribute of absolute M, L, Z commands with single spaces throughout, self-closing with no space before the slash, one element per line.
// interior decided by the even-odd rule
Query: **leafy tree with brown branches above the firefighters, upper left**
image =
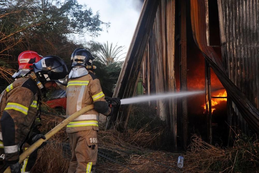
<path fill-rule="evenodd" d="M 100 20 L 97 12 L 80 5 L 76 0 L 5 0 L 0 2 L 0 61 L 15 62 L 25 50 L 33 50 L 47 56 L 63 58 L 70 67 L 70 56 L 85 44 L 74 39 L 73 34 L 98 36 L 110 23 Z M 9 67 L 10 68 L 10 67 Z M 11 79 L 6 66 L 0 64 L 0 82 Z M 1 73 L 1 74 L 2 74 Z"/>

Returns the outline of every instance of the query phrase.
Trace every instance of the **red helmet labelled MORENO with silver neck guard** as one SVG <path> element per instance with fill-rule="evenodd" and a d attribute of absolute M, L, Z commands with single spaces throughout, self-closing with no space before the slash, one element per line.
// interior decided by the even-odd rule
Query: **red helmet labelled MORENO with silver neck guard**
<path fill-rule="evenodd" d="M 34 51 L 21 52 L 18 56 L 19 70 L 12 77 L 26 76 L 32 70 L 32 64 L 37 63 L 41 58 L 43 57 Z"/>

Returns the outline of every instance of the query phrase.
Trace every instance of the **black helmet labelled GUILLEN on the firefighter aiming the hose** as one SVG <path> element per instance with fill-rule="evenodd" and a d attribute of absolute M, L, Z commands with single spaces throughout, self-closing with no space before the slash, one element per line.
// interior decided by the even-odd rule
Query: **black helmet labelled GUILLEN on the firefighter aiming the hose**
<path fill-rule="evenodd" d="M 92 61 L 95 58 L 92 56 L 91 52 L 83 48 L 77 48 L 71 55 L 71 62 L 73 66 L 87 66 L 92 65 Z"/>

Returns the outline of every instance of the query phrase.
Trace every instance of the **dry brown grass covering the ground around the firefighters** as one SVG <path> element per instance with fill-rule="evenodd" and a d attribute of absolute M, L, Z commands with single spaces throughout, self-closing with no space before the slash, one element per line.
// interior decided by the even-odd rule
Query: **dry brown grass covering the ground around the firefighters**
<path fill-rule="evenodd" d="M 53 110 L 51 110 L 53 111 Z M 51 114 L 51 113 L 50 113 Z M 47 132 L 64 118 L 43 115 L 41 130 Z M 147 124 L 148 126 L 148 124 Z M 162 130 L 129 129 L 126 133 L 117 130 L 98 132 L 98 160 L 96 172 L 255 172 L 258 167 L 259 143 L 257 139 L 237 136 L 231 148 L 222 149 L 193 136 L 187 153 L 170 153 L 150 150 L 159 145 Z M 67 172 L 69 151 L 67 134 L 62 129 L 39 150 L 32 172 Z M 177 157 L 184 155 L 184 168 L 177 167 Z"/>

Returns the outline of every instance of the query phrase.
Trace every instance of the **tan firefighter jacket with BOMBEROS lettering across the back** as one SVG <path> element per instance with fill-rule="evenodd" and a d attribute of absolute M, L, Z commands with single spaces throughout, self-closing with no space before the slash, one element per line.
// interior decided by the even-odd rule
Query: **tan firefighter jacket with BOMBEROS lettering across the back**
<path fill-rule="evenodd" d="M 67 125 L 67 133 L 90 129 L 99 130 L 99 113 L 106 116 L 111 113 L 111 108 L 104 99 L 105 95 L 100 81 L 91 72 L 75 79 L 69 79 L 66 94 L 67 117 L 88 105 L 94 104 L 95 107 L 70 122 Z"/>

